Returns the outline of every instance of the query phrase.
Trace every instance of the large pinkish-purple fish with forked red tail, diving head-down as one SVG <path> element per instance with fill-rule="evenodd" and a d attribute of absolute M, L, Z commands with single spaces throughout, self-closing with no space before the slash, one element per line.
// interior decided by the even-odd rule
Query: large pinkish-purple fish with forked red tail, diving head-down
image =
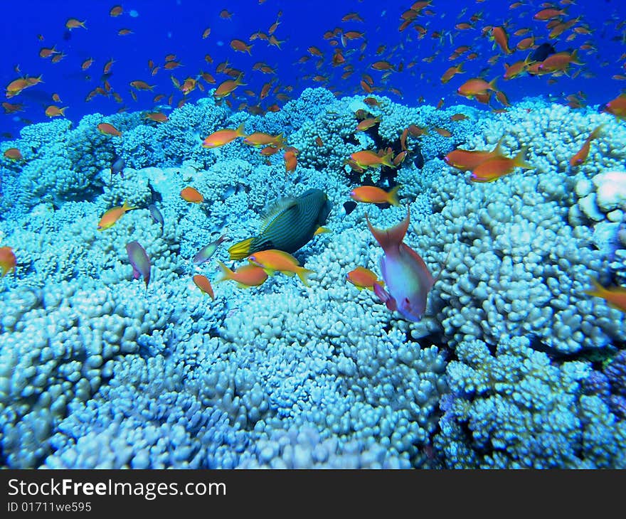
<path fill-rule="evenodd" d="M 426 298 L 435 279 L 428 272 L 424 260 L 402 240 L 410 222 L 410 208 L 406 218 L 391 229 L 367 226 L 385 255 L 381 258 L 381 273 L 387 289 L 374 284 L 374 293 L 391 311 L 398 311 L 408 321 L 419 321 L 426 311 Z"/>

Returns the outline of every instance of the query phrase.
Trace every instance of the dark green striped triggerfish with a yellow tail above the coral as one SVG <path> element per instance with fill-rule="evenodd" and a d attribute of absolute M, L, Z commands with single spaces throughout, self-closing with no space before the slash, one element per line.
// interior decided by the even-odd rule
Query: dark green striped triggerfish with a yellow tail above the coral
<path fill-rule="evenodd" d="M 279 200 L 263 218 L 257 236 L 228 248 L 230 259 L 241 260 L 268 249 L 296 252 L 326 223 L 330 210 L 328 197 L 319 189 L 309 189 L 297 198 Z"/>

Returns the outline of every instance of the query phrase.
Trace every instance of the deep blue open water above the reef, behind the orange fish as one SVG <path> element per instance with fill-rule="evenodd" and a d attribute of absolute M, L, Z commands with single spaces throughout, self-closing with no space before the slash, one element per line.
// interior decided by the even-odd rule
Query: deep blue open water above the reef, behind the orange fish
<path fill-rule="evenodd" d="M 499 76 L 498 86 L 504 90 L 511 102 L 521 100 L 525 95 L 550 95 L 554 100 L 563 101 L 563 98 L 574 92 L 583 91 L 588 97 L 588 103 L 603 104 L 620 94 L 626 87 L 626 81 L 612 79 L 613 75 L 626 75 L 624 67 L 626 59 L 622 56 L 626 52 L 625 27 L 619 24 L 626 18 L 626 1 L 624 0 L 578 0 L 576 5 L 566 6 L 571 19 L 581 16 L 580 23 L 585 23 L 593 31 L 590 35 L 578 35 L 573 41 L 566 42 L 565 38 L 572 30 L 563 33 L 561 38 L 551 41 L 557 50 L 578 48 L 585 42 L 590 42 L 597 49 L 592 53 L 579 50 L 580 58 L 584 61 L 583 72 L 578 77 L 561 77 L 554 84 L 549 84 L 550 76 L 521 77 L 516 80 L 504 81 L 503 62 L 513 63 L 524 59 L 527 52 L 517 51 L 514 55 L 500 58 L 494 65 L 487 60 L 496 50 L 492 50 L 492 42 L 481 36 L 480 29 L 484 26 L 505 24 L 510 38 L 510 46 L 523 37 L 513 36 L 519 28 L 531 28 L 537 43 L 548 41 L 546 22 L 534 21 L 532 16 L 541 9 L 541 2 L 525 2 L 523 6 L 509 9 L 511 1 L 450 1 L 434 0 L 431 9 L 433 16 L 420 16 L 416 23 L 428 29 L 425 38 L 418 39 L 418 33 L 408 28 L 402 33 L 398 31 L 401 23 L 400 14 L 408 9 L 411 1 L 372 1 L 372 0 L 302 0 L 280 1 L 266 0 L 259 4 L 258 0 L 159 0 L 159 1 L 102 1 L 102 0 L 26 0 L 3 2 L 3 31 L 0 31 L 1 48 L 4 56 L 0 63 L 0 80 L 2 86 L 16 79 L 21 74 L 30 76 L 43 75 L 43 84 L 24 90 L 21 95 L 11 98 L 9 102 L 20 102 L 26 107 L 24 112 L 16 114 L 0 113 L 0 133 L 9 132 L 17 136 L 18 129 L 25 124 L 23 119 L 32 122 L 48 120 L 43 114 L 45 107 L 53 104 L 51 95 L 58 93 L 62 100 L 60 106 L 67 106 L 66 116 L 78 122 L 84 114 L 100 112 L 111 114 L 125 106 L 129 111 L 152 109 L 152 99 L 157 93 L 167 96 L 174 92 L 174 106 L 183 97 L 174 89 L 170 75 L 173 74 L 181 82 L 185 77 L 196 77 L 200 70 L 211 73 L 219 82 L 228 79 L 226 75 L 217 74 L 216 66 L 228 59 L 231 66 L 243 70 L 246 87 L 240 87 L 238 92 L 250 88 L 260 92 L 262 85 L 275 79 L 280 92 L 285 87 L 292 86 L 292 97 L 308 86 L 323 86 L 324 83 L 307 79 L 306 75 L 329 75 L 326 86 L 345 94 L 363 93 L 359 87 L 361 73 L 373 77 L 376 85 L 381 85 L 381 72 L 370 68 L 371 63 L 378 59 L 388 59 L 393 65 L 404 64 L 401 73 L 392 73 L 388 78 L 387 87 L 394 87 L 402 92 L 402 102 L 407 105 L 417 105 L 418 98 L 423 96 L 425 102 L 436 103 L 441 97 L 447 105 L 464 102 L 462 97 L 455 94 L 457 87 L 472 76 L 483 73 L 487 79 Z M 124 14 L 117 18 L 109 16 L 112 6 L 121 4 Z M 559 4 L 555 3 L 556 6 Z M 138 16 L 129 15 L 136 10 Z M 230 20 L 219 16 L 222 9 L 228 9 L 233 14 Z M 282 10 L 280 26 L 275 36 L 282 43 L 279 50 L 267 46 L 265 41 L 256 40 L 253 43 L 252 56 L 233 51 L 230 40 L 240 38 L 248 41 L 255 31 L 267 32 L 269 26 L 276 20 L 278 11 Z M 341 18 L 351 11 L 356 11 L 364 18 L 364 23 L 349 21 L 342 22 Z M 455 24 L 470 21 L 470 16 L 482 12 L 482 19 L 475 23 L 474 28 L 467 31 L 458 31 Z M 86 21 L 87 30 L 82 28 L 67 31 L 65 21 L 70 18 Z M 205 28 L 211 27 L 211 35 L 203 39 L 201 35 Z M 332 67 L 329 63 L 333 48 L 322 37 L 324 32 L 334 28 L 343 28 L 346 31 L 356 30 L 366 33 L 367 47 L 361 53 L 359 46 L 362 40 L 349 42 L 343 49 L 348 63 L 354 65 L 354 73 L 346 80 L 341 80 L 344 72 L 341 67 Z M 118 36 L 120 28 L 129 28 L 133 31 L 128 36 Z M 433 31 L 442 34 L 442 38 L 433 38 Z M 43 36 L 43 41 L 38 35 Z M 42 47 L 56 46 L 67 54 L 59 63 L 51 63 L 50 59 L 42 59 L 38 53 Z M 376 55 L 378 46 L 386 45 L 381 55 Z M 457 75 L 447 85 L 442 85 L 440 77 L 452 64 L 465 60 L 462 58 L 454 62 L 448 60 L 452 50 L 461 45 L 471 46 L 471 51 L 478 53 L 476 60 L 467 61 L 464 65 L 467 73 Z M 309 46 L 317 46 L 324 52 L 324 64 L 317 69 L 317 59 L 308 63 L 298 64 L 302 55 L 307 55 Z M 350 54 L 350 50 L 354 53 Z M 436 50 L 440 54 L 432 63 L 423 61 Z M 184 67 L 175 70 L 164 70 L 152 77 L 147 62 L 152 59 L 155 64 L 163 65 L 167 54 L 176 54 Z M 206 63 L 204 56 L 210 54 L 213 63 Z M 363 58 L 360 59 L 361 55 Z M 92 57 L 95 62 L 87 71 L 80 68 L 86 58 Z M 102 67 L 109 58 L 115 59 L 112 67 L 112 76 L 109 79 L 112 88 L 123 98 L 122 105 L 112 98 L 95 97 L 85 102 L 85 96 L 90 90 L 101 85 Z M 621 59 L 620 59 L 621 58 Z M 416 65 L 408 68 L 412 60 Z M 253 64 L 263 61 L 275 67 L 275 76 L 264 75 L 253 71 Z M 19 65 L 21 73 L 16 73 L 14 67 Z M 578 66 L 573 65 L 574 72 Z M 129 94 L 129 82 L 144 80 L 156 85 L 154 92 L 137 92 L 138 100 L 134 102 Z M 215 87 L 216 85 L 206 85 Z M 381 92 L 385 93 L 385 92 Z M 189 95 L 190 100 L 196 100 L 206 93 L 196 91 Z M 397 95 L 389 94 L 393 100 L 400 101 Z M 1 94 L 6 101 L 4 92 Z M 236 108 L 245 100 L 233 100 Z M 255 101 L 252 101 L 253 104 Z M 262 101 L 267 107 L 277 100 L 270 95 Z M 279 105 L 283 102 L 278 101 Z M 475 102 L 468 101 L 473 104 Z M 500 107 L 494 103 L 494 107 Z M 2 137 L 6 139 L 8 135 Z"/>

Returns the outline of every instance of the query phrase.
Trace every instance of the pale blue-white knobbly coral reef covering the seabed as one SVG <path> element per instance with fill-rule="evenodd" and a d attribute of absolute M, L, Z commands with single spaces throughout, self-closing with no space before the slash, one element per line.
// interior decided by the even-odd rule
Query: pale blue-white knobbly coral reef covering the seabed
<path fill-rule="evenodd" d="M 307 89 L 250 115 L 206 98 L 159 124 L 92 114 L 2 143 L 24 150 L 0 157 L 0 247 L 15 255 L 0 280 L 2 466 L 626 468 L 624 124 L 534 99 L 504 113 L 375 99 Z M 358 110 L 378 124 L 355 132 Z M 241 124 L 282 132 L 295 171 L 240 137 L 203 146 Z M 394 167 L 351 162 L 400 141 Z M 498 143 L 529 167 L 479 182 L 449 165 Z M 400 205 L 348 209 L 361 183 L 399 184 Z M 237 277 L 252 263 L 229 248 L 280 229 L 309 189 L 331 210 L 295 263 Z M 408 217 L 403 254 L 434 282 L 411 320 L 390 286 L 415 279 L 366 223 Z M 349 282 L 356 267 L 380 286 Z"/>

